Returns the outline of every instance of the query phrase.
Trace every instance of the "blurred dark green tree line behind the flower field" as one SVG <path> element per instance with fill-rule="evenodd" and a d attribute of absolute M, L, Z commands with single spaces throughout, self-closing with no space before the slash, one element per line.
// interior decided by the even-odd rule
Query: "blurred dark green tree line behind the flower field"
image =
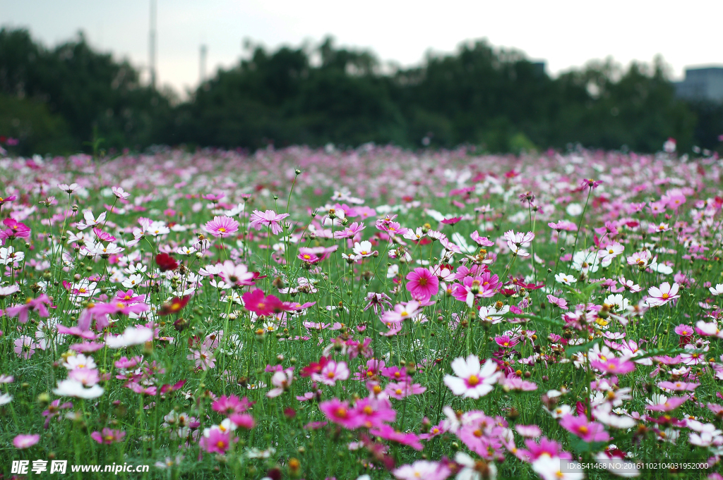
<path fill-rule="evenodd" d="M 369 51 L 251 45 L 181 102 L 140 82 L 128 61 L 82 34 L 46 48 L 0 30 L 0 136 L 20 154 L 142 150 L 153 144 L 257 149 L 369 141 L 402 147 L 474 144 L 488 152 L 570 144 L 654 152 L 720 147 L 723 106 L 685 102 L 662 59 L 627 69 L 596 61 L 556 78 L 484 40 L 428 54 L 414 68 Z"/>

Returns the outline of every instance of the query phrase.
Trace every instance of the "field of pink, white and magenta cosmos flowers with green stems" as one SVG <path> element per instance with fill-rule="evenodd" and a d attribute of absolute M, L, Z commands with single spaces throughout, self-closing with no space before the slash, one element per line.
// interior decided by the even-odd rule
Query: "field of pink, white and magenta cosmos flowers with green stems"
<path fill-rule="evenodd" d="M 723 479 L 722 209 L 669 153 L 2 158 L 0 472 Z"/>

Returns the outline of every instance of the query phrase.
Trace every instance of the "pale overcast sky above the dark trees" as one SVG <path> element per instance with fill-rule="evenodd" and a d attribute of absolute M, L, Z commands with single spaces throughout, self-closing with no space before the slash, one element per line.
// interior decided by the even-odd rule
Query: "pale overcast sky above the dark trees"
<path fill-rule="evenodd" d="M 685 66 L 723 65 L 722 0 L 157 1 L 158 81 L 179 93 L 198 83 L 202 43 L 213 74 L 247 54 L 244 38 L 275 48 L 333 35 L 402 66 L 487 38 L 547 61 L 553 75 L 607 56 L 627 65 L 661 54 L 675 79 Z M 94 47 L 143 67 L 149 10 L 150 0 L 0 0 L 0 25 L 26 27 L 46 45 L 83 30 Z"/>

